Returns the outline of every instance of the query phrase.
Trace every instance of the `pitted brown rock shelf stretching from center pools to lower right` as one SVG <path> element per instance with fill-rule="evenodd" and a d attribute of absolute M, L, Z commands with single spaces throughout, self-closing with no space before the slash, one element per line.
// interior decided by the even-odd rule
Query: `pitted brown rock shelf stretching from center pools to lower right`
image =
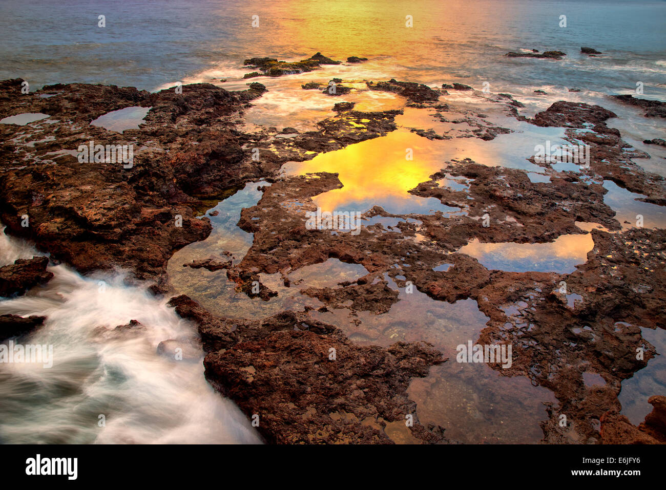
<path fill-rule="evenodd" d="M 363 226 L 355 236 L 306 230 L 304 213 L 316 207 L 312 196 L 339 188 L 342 184 L 337 175 L 320 172 L 274 182 L 263 189 L 256 206 L 242 210 L 238 226 L 254 233 L 254 242 L 238 268 L 285 274 L 328 258 L 362 264 L 370 273 L 362 282 L 303 290 L 327 306 L 352 312 L 373 311 L 355 296 L 390 304 L 395 291 L 384 290 L 384 274 L 398 287 L 410 281 L 437 300 L 472 298 L 490 318 L 478 342 L 513 345 L 511 368 L 491 366 L 502 375 L 529 377 L 533 384 L 551 389 L 559 401 L 557 409 L 549 407 L 549 419 L 543 423 L 545 441 L 598 443 L 601 417 L 619 410 L 621 381 L 645 367 L 655 355 L 655 348 L 642 338 L 639 326 L 666 328 L 661 314 L 666 308 L 666 231 L 593 230 L 593 250 L 587 262 L 571 274 L 488 270 L 457 250 L 471 238 L 534 243 L 562 234 L 581 234 L 583 230 L 576 225 L 581 221 L 620 230 L 615 213 L 603 202 L 606 190 L 601 182 L 610 172 L 619 173 L 621 166 L 627 167 L 625 176 L 633 176 L 632 180 L 626 178 L 627 182 L 641 185 L 651 199 L 659 202 L 657 196 L 663 198 L 664 192 L 658 176 L 635 164 L 628 166 L 631 152 L 627 156 L 621 156 L 619 150 L 610 152 L 623 148 L 623 142 L 617 130 L 603 123 L 609 117 L 612 113 L 601 107 L 562 103 L 535 118 L 569 126 L 571 138 L 579 136 L 574 132 L 577 128 L 593 124 L 587 136 L 592 148 L 586 172 L 594 178 L 548 170 L 551 182 L 543 184 L 531 182 L 522 170 L 483 166 L 469 159 L 453 160 L 411 192 L 436 197 L 464 212 L 400 216 L 375 206 L 364 215 L 409 217 L 421 222 L 401 222 L 398 230 L 382 230 L 380 224 Z M 600 161 L 604 159 L 607 161 Z M 597 170 L 602 172 L 601 179 L 596 176 Z M 464 180 L 468 190 L 440 187 L 438 180 L 442 178 Z M 278 215 L 270 212 L 283 203 L 294 202 L 300 205 L 282 206 Z M 489 227 L 482 226 L 480 219 L 486 212 L 492 222 Z M 415 240 L 417 232 L 426 240 Z M 454 265 L 446 272 L 433 270 L 443 262 Z M 403 278 L 396 277 L 399 275 Z M 373 283 L 371 290 L 368 286 Z M 566 293 L 560 292 L 562 284 Z M 567 300 L 571 293 L 583 298 L 573 307 Z M 511 305 L 518 305 L 513 313 L 505 309 Z M 375 310 L 379 314 L 381 311 Z M 638 348 L 645 352 L 641 360 L 635 355 Z M 585 385 L 583 373 L 601 375 L 604 384 Z M 566 427 L 559 426 L 561 413 L 567 415 Z"/>

